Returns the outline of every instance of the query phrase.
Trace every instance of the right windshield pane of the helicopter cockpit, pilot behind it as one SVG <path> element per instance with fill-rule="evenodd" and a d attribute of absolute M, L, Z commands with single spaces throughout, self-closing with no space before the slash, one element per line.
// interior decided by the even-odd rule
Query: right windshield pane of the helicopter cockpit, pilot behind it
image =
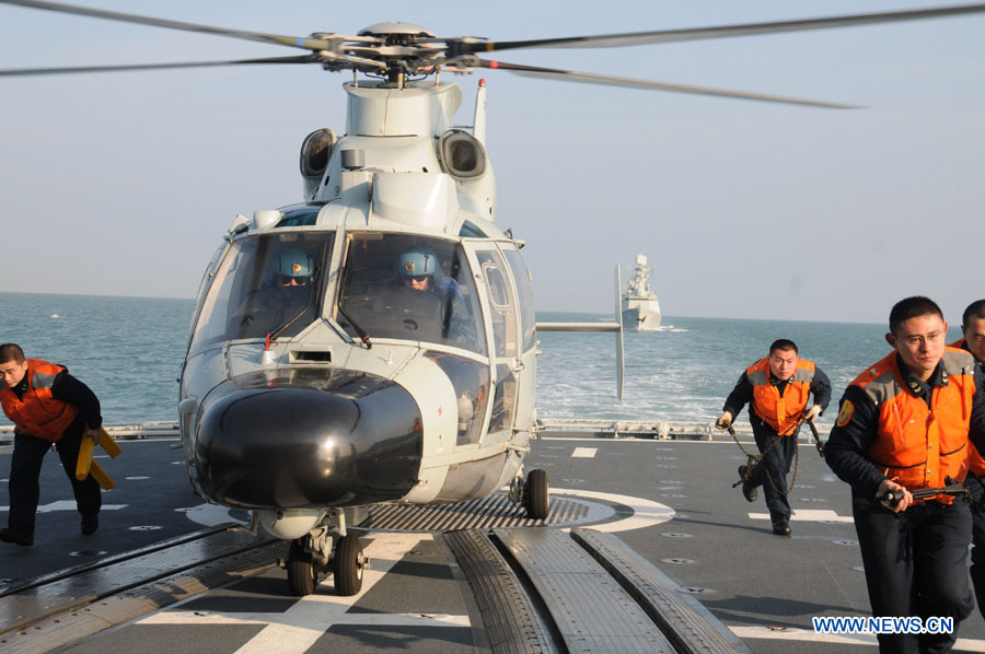
<path fill-rule="evenodd" d="M 460 245 L 379 232 L 349 238 L 337 316 L 344 327 L 370 338 L 486 353 L 475 284 Z"/>

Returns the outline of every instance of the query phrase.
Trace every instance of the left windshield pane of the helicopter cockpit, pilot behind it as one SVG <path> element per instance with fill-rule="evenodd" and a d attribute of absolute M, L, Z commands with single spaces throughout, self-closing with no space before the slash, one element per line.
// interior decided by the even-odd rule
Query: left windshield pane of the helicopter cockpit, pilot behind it
<path fill-rule="evenodd" d="M 192 350 L 217 341 L 296 336 L 321 306 L 334 234 L 286 232 L 234 242 L 199 313 Z"/>

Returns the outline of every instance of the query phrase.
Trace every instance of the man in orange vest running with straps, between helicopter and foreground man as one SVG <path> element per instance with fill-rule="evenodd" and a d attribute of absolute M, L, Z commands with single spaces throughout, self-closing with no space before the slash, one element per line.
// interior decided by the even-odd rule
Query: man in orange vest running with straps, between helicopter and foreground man
<path fill-rule="evenodd" d="M 814 395 L 808 408 L 809 396 Z M 831 401 L 831 382 L 824 372 L 807 359 L 800 359 L 797 344 L 785 338 L 769 346 L 769 354 L 739 376 L 716 421 L 728 429 L 749 404 L 749 420 L 762 458 L 752 470 L 739 466 L 744 479 L 742 494 L 756 500 L 756 487 L 763 487 L 773 533 L 790 535 L 790 503 L 787 501 L 787 472 L 797 452 L 797 434 L 802 421 L 814 420 Z"/>

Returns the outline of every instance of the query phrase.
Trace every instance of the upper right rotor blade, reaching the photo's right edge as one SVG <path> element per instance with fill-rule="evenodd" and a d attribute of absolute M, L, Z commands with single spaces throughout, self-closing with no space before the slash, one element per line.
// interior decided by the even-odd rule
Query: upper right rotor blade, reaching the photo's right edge
<path fill-rule="evenodd" d="M 768 23 L 746 23 L 721 25 L 718 27 L 690 27 L 684 30 L 660 30 L 654 32 L 633 32 L 625 34 L 603 34 L 598 36 L 570 36 L 561 38 L 533 38 L 528 40 L 482 40 L 475 38 L 440 39 L 449 44 L 449 57 L 462 55 L 494 52 L 519 48 L 617 48 L 627 46 L 699 40 L 706 38 L 726 38 L 729 36 L 751 36 L 754 34 L 776 34 L 781 32 L 800 32 L 807 30 L 825 30 L 830 27 L 848 27 L 871 25 L 897 21 L 916 21 L 924 19 L 948 17 L 985 12 L 985 4 L 965 4 L 941 7 L 937 9 L 917 9 L 908 11 L 890 11 L 867 14 L 848 14 L 799 21 L 777 21 Z"/>

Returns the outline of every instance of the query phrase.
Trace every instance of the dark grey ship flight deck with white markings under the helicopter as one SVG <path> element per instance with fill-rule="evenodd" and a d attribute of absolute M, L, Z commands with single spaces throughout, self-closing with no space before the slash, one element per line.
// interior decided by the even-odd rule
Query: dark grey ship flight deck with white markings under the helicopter
<path fill-rule="evenodd" d="M 506 489 L 376 506 L 362 589 L 340 597 L 329 575 L 296 597 L 286 544 L 192 492 L 176 425 L 113 433 L 123 454 L 96 460 L 117 486 L 92 536 L 47 457 L 35 545 L 0 550 L 0 652 L 874 651 L 870 634 L 814 629 L 869 606 L 848 488 L 806 441 L 793 534 L 778 537 L 732 488 L 745 457 L 710 425 L 545 421 L 532 463 L 551 476 L 546 518 Z M 11 449 L 0 433 L 4 475 Z M 985 651 L 977 611 L 959 637 L 957 651 Z"/>

